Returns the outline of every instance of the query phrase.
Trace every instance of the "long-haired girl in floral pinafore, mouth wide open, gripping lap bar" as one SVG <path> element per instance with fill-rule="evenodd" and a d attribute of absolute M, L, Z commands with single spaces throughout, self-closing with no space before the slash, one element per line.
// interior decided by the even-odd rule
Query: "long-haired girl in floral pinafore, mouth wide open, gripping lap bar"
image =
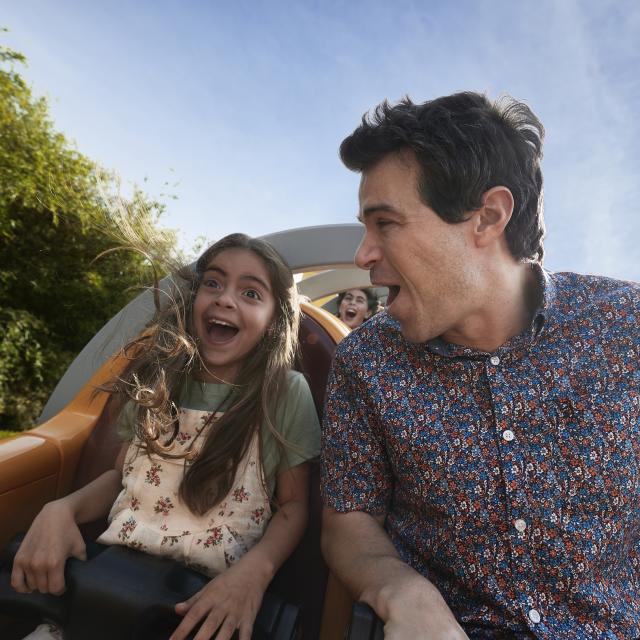
<path fill-rule="evenodd" d="M 109 512 L 98 539 L 169 556 L 213 579 L 176 605 L 172 640 L 249 640 L 262 596 L 307 522 L 306 460 L 319 426 L 290 370 L 299 309 L 290 270 L 267 243 L 223 238 L 190 286 L 125 351 L 109 386 L 124 405 L 115 469 L 36 517 L 13 565 L 20 592 L 64 590 L 64 563 L 86 558 L 77 524 Z M 117 498 L 117 499 L 116 499 Z M 114 503 L 115 499 L 115 503 Z M 277 505 L 272 515 L 271 505 Z M 40 625 L 28 636 L 62 638 Z"/>

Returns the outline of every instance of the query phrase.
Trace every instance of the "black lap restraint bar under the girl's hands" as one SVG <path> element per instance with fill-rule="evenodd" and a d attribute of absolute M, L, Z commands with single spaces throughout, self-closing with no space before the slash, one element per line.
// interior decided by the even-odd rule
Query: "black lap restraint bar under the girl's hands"
<path fill-rule="evenodd" d="M 0 612 L 55 622 L 65 640 L 166 640 L 181 620 L 175 604 L 210 580 L 174 560 L 88 543 L 86 562 L 67 560 L 64 594 L 17 593 L 11 588 L 11 567 L 21 540 L 18 536 L 9 543 L 0 563 Z M 294 640 L 299 613 L 298 607 L 267 591 L 252 640 Z"/>

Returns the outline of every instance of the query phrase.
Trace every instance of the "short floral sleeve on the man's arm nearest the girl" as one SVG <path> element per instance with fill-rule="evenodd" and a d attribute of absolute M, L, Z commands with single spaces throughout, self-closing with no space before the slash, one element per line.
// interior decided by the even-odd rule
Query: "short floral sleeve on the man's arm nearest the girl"
<path fill-rule="evenodd" d="M 345 347 L 338 347 L 327 387 L 322 496 L 338 512 L 383 514 L 389 510 L 392 479 L 375 409 L 376 381 L 364 369 L 371 357 L 360 358 Z"/>

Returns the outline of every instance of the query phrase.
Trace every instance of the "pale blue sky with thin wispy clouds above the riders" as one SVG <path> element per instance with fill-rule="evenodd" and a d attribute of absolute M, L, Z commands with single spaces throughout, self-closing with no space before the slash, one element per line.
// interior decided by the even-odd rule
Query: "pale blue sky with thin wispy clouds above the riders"
<path fill-rule="evenodd" d="M 80 151 L 178 197 L 187 248 L 353 222 L 361 115 L 473 89 L 545 125 L 546 265 L 640 280 L 637 0 L 22 0 L 0 25 Z"/>

